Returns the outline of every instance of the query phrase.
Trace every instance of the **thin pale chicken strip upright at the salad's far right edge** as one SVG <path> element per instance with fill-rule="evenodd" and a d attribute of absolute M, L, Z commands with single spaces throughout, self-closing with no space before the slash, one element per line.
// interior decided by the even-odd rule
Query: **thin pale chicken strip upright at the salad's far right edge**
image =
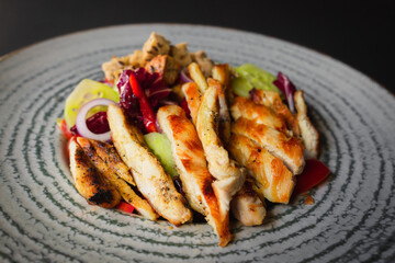
<path fill-rule="evenodd" d="M 304 100 L 303 91 L 298 90 L 294 94 L 296 107 L 296 123 L 298 124 L 303 144 L 305 146 L 305 155 L 308 158 L 316 158 L 318 156 L 318 139 L 317 129 L 313 126 L 307 117 L 307 106 Z"/>

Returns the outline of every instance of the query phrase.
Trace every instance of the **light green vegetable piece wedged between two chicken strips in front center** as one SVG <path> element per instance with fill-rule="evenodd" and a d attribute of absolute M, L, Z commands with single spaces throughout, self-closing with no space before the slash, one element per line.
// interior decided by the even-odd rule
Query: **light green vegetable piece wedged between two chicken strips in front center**
<path fill-rule="evenodd" d="M 149 133 L 144 135 L 144 139 L 149 149 L 159 159 L 165 171 L 170 174 L 172 179 L 178 178 L 179 173 L 177 172 L 176 162 L 172 158 L 170 140 L 166 137 L 166 135 Z"/>

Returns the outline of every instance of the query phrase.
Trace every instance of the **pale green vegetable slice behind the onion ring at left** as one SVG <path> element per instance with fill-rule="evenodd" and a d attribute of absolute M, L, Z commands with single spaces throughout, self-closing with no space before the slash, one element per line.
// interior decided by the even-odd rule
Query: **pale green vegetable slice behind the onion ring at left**
<path fill-rule="evenodd" d="M 102 98 L 114 102 L 120 101 L 117 92 L 109 85 L 90 79 L 81 80 L 66 100 L 64 114 L 67 127 L 71 128 L 76 124 L 76 117 L 83 104 L 94 99 Z M 89 115 L 93 115 L 95 112 L 105 111 L 105 108 L 95 108 L 94 112 L 90 112 Z"/>

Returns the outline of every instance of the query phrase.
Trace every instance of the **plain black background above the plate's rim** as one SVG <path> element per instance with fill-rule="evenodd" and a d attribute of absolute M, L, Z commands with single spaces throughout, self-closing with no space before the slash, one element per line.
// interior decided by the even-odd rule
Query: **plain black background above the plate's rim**
<path fill-rule="evenodd" d="M 394 1 L 0 0 L 0 56 L 49 37 L 106 25 L 234 27 L 313 48 L 395 92 Z"/>

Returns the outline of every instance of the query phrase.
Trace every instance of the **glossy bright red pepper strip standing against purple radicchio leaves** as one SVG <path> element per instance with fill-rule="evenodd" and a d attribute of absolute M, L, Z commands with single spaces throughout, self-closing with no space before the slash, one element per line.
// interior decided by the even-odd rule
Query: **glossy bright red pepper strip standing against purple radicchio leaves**
<path fill-rule="evenodd" d="M 144 93 L 144 90 L 142 89 L 140 84 L 138 83 L 136 77 L 133 73 L 131 73 L 131 76 L 129 76 L 129 83 L 131 83 L 133 93 L 137 98 L 138 103 L 140 105 L 144 126 L 146 127 L 148 133 L 158 132 L 155 126 L 156 117 L 155 117 L 154 110 L 153 110 L 151 105 L 149 104 L 147 96 Z"/>

